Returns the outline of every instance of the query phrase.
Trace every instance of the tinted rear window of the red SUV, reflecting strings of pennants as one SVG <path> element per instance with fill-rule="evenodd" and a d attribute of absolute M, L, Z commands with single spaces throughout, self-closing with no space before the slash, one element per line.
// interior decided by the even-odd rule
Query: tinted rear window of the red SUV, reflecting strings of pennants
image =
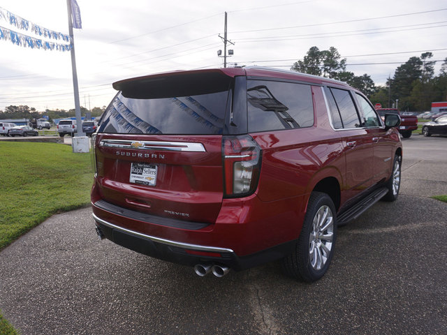
<path fill-rule="evenodd" d="M 221 74 L 149 78 L 114 85 L 99 133 L 223 134 L 231 78 Z"/>

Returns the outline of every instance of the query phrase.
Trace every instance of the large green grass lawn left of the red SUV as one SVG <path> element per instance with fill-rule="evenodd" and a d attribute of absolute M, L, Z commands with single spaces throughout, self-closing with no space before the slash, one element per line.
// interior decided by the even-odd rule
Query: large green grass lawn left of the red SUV
<path fill-rule="evenodd" d="M 0 142 L 0 250 L 52 214 L 85 207 L 89 154 L 57 143 Z"/>

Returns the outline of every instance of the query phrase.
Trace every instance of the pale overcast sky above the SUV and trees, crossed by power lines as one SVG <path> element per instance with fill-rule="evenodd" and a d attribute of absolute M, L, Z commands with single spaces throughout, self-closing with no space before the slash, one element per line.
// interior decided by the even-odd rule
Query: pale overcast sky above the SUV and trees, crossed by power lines
<path fill-rule="evenodd" d="M 406 1 L 78 0 L 74 30 L 80 104 L 108 105 L 112 82 L 170 70 L 217 68 L 223 59 L 224 12 L 230 64 L 289 69 L 309 47 L 336 47 L 347 70 L 376 85 L 410 57 L 432 51 L 436 70 L 447 57 L 447 3 Z M 68 34 L 65 0 L 1 0 L 0 7 Z M 0 20 L 5 27 L 34 36 Z M 59 41 L 59 43 L 63 43 Z M 356 65 L 360 64 L 360 65 Z M 363 65 L 362 65 L 363 64 Z M 0 110 L 74 108 L 70 52 L 30 49 L 0 40 Z"/>

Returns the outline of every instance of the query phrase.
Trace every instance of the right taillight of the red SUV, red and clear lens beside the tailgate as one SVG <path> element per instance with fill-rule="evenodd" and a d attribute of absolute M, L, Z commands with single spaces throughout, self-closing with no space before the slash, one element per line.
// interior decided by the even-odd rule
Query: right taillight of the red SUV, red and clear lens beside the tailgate
<path fill-rule="evenodd" d="M 250 135 L 224 136 L 222 140 L 226 197 L 254 193 L 261 172 L 261 148 Z"/>

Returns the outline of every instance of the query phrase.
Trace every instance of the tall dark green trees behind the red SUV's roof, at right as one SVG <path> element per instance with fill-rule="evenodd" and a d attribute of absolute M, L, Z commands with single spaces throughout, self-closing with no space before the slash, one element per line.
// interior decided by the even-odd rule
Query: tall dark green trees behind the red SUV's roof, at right
<path fill-rule="evenodd" d="M 436 61 L 432 61 L 432 57 L 432 52 L 411 57 L 396 68 L 385 86 L 376 86 L 367 73 L 354 75 L 346 71 L 346 58 L 342 59 L 335 47 L 329 50 L 311 47 L 291 70 L 347 82 L 362 91 L 372 103 L 380 103 L 383 107 L 393 107 L 398 99 L 400 110 L 421 112 L 430 110 L 433 101 L 447 101 L 447 57 L 438 75 L 434 73 Z"/>

